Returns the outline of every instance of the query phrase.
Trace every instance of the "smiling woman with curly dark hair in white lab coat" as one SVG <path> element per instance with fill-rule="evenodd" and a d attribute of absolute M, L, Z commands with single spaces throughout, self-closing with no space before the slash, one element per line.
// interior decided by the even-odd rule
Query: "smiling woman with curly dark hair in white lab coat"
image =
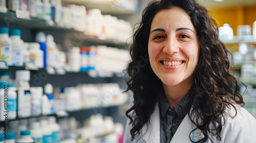
<path fill-rule="evenodd" d="M 126 70 L 134 105 L 124 142 L 254 142 L 256 120 L 243 108 L 217 30 L 194 0 L 144 9 Z M 150 62 L 140 66 L 141 57 Z"/>

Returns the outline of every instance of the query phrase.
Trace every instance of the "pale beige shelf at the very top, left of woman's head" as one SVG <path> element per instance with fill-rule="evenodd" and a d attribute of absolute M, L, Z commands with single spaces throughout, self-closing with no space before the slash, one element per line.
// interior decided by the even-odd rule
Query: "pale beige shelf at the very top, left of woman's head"
<path fill-rule="evenodd" d="M 120 2 L 120 1 L 119 1 Z M 63 4 L 83 5 L 86 9 L 100 9 L 103 14 L 133 14 L 138 11 L 138 6 L 134 10 L 129 10 L 124 5 L 120 5 L 117 0 L 63 0 Z"/>

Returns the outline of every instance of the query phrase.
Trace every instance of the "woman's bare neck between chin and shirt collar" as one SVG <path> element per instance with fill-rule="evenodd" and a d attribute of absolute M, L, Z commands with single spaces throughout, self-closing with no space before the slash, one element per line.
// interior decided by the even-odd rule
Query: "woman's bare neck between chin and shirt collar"
<path fill-rule="evenodd" d="M 185 96 L 193 82 L 183 81 L 174 86 L 168 86 L 163 83 L 165 98 L 170 106 L 175 107 L 176 104 Z"/>

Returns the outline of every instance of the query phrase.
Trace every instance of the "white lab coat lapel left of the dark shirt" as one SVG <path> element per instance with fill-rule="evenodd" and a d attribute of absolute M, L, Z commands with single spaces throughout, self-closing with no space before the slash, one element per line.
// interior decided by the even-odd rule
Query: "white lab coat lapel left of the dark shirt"
<path fill-rule="evenodd" d="M 158 105 L 156 105 L 151 115 L 150 123 L 142 127 L 142 134 L 146 143 L 160 143 L 160 116 Z"/>

